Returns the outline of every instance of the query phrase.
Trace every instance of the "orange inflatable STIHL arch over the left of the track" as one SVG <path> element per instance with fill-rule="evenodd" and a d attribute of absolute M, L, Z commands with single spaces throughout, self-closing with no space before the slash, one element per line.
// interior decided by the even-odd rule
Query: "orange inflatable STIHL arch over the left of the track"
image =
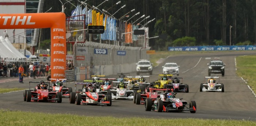
<path fill-rule="evenodd" d="M 51 29 L 51 78 L 65 78 L 66 27 L 64 13 L 0 14 L 0 29 Z"/>

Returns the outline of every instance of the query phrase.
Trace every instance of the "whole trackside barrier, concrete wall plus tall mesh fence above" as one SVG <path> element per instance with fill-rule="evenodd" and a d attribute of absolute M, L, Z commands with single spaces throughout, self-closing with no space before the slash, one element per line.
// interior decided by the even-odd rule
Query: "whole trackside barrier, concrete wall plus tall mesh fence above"
<path fill-rule="evenodd" d="M 150 47 L 116 46 L 96 42 L 74 44 L 75 80 L 91 75 L 115 75 L 136 70 L 139 59 L 149 59 Z M 70 75 L 74 76 L 74 75 Z"/>

